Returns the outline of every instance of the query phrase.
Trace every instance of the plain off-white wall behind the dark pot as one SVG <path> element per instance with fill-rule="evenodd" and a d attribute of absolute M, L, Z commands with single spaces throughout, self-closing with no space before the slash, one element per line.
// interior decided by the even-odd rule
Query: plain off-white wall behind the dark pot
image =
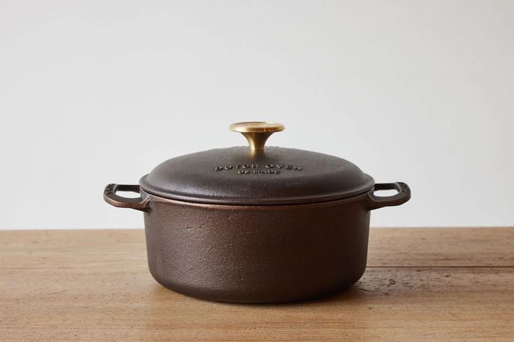
<path fill-rule="evenodd" d="M 411 202 L 373 226 L 514 225 L 514 1 L 0 0 L 1 229 L 136 228 L 164 159 L 270 143 Z"/>

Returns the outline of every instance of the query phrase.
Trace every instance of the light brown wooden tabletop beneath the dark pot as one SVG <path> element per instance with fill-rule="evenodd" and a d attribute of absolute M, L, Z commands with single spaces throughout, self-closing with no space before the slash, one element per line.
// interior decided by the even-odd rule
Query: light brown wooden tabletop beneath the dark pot
<path fill-rule="evenodd" d="M 0 340 L 514 341 L 514 228 L 372 229 L 347 292 L 206 302 L 148 273 L 143 230 L 0 232 Z"/>

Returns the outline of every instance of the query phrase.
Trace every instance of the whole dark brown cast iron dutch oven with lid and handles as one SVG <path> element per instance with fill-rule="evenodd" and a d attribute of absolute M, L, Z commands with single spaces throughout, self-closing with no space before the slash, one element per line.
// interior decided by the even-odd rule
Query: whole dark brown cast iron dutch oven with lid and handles
<path fill-rule="evenodd" d="M 141 210 L 150 273 L 186 295 L 222 302 L 313 299 L 364 273 L 370 211 L 411 198 L 342 158 L 266 147 L 284 126 L 231 125 L 248 147 L 211 149 L 157 165 L 139 185 L 109 184 L 110 205 Z M 378 197 L 374 191 L 394 189 Z M 117 191 L 134 191 L 123 198 Z"/>

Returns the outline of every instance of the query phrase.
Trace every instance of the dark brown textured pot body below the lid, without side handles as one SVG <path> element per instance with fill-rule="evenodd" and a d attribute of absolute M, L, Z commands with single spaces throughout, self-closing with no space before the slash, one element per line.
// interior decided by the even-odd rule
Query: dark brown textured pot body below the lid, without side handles
<path fill-rule="evenodd" d="M 222 302 L 310 299 L 366 268 L 365 195 L 310 205 L 201 205 L 150 195 L 148 266 L 166 288 Z"/>

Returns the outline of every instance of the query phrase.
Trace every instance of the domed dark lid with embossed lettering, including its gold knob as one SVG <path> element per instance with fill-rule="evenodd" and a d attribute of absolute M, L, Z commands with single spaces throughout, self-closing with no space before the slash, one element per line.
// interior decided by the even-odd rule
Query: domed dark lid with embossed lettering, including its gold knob
<path fill-rule="evenodd" d="M 171 158 L 141 178 L 144 191 L 163 198 L 226 205 L 278 205 L 339 200 L 365 193 L 375 182 L 343 158 L 301 149 L 266 147 L 284 126 L 232 124 L 248 147 L 210 149 Z"/>

